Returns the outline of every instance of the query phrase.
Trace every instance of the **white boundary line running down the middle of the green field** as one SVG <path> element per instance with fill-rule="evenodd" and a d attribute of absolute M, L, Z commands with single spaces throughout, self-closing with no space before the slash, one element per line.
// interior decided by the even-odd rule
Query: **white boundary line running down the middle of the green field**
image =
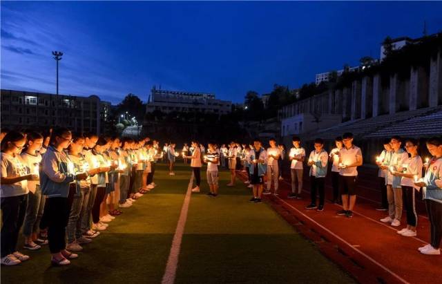
<path fill-rule="evenodd" d="M 189 211 L 189 204 L 192 195 L 192 178 L 187 186 L 186 197 L 181 207 L 180 218 L 178 219 L 175 235 L 173 236 L 171 252 L 167 259 L 166 270 L 164 271 L 162 284 L 173 284 L 175 282 L 175 275 L 177 273 L 178 256 L 180 256 L 182 235 L 184 234 L 184 227 L 186 226 L 187 212 Z"/>

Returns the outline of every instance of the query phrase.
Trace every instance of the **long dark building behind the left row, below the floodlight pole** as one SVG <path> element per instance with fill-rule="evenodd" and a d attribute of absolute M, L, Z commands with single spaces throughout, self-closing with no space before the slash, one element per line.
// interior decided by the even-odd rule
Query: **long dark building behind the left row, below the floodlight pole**
<path fill-rule="evenodd" d="M 15 90 L 1 90 L 1 127 L 47 129 L 66 126 L 72 131 L 103 132 L 111 103 L 96 95 L 77 97 Z"/>

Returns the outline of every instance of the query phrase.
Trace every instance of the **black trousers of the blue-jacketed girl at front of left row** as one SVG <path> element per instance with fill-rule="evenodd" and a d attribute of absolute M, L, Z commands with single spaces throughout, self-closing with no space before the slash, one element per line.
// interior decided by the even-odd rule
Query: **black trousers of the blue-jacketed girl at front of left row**
<path fill-rule="evenodd" d="M 66 226 L 69 218 L 68 198 L 52 197 L 46 200 L 45 211 L 48 216 L 48 241 L 51 254 L 57 254 L 66 248 Z"/>

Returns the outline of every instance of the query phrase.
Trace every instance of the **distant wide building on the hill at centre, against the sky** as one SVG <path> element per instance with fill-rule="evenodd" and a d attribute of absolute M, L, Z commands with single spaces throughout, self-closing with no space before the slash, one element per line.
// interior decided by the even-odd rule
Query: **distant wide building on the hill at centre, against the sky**
<path fill-rule="evenodd" d="M 148 99 L 146 113 L 193 112 L 216 113 L 224 115 L 231 112 L 232 102 L 217 100 L 212 93 L 191 93 L 184 91 L 166 91 L 153 86 Z"/>

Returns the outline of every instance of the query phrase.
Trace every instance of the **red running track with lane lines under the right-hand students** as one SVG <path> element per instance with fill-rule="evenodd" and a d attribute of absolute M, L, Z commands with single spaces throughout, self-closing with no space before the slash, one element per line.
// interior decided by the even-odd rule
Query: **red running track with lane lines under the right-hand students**
<path fill-rule="evenodd" d="M 416 238 L 396 234 L 405 225 L 396 229 L 379 222 L 387 214 L 375 210 L 381 198 L 374 187 L 375 179 L 370 179 L 371 171 L 361 169 L 357 192 L 362 196 L 356 200 L 353 218 L 336 215 L 342 207 L 328 201 L 332 196 L 329 180 L 328 200 L 322 212 L 305 209 L 310 201 L 309 191 L 303 190 L 301 200 L 287 198 L 290 184 L 285 180 L 280 181 L 280 195 L 267 196 L 265 200 L 360 283 L 442 283 L 442 256 L 427 256 L 417 250 L 430 240 L 428 219 L 419 216 Z M 238 176 L 245 179 L 244 173 Z M 304 189 L 309 188 L 309 179 L 305 178 L 304 182 Z M 406 224 L 405 214 L 401 223 Z"/>

